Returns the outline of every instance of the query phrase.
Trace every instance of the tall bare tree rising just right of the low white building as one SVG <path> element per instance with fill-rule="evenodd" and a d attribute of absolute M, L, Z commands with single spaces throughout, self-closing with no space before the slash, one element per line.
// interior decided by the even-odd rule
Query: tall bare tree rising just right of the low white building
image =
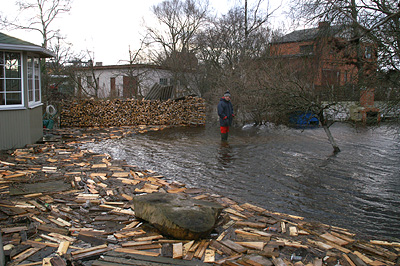
<path fill-rule="evenodd" d="M 152 60 L 172 71 L 175 89 L 191 92 L 198 63 L 195 36 L 207 22 L 208 0 L 165 0 L 152 11 L 158 21 L 147 27 Z"/>

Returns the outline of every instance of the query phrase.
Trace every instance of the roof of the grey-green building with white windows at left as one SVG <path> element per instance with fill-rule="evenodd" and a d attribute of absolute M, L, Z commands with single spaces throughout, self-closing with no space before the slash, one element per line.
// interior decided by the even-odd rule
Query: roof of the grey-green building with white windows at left
<path fill-rule="evenodd" d="M 0 49 L 12 51 L 30 51 L 38 53 L 41 57 L 54 57 L 54 54 L 33 43 L 9 36 L 0 32 Z"/>

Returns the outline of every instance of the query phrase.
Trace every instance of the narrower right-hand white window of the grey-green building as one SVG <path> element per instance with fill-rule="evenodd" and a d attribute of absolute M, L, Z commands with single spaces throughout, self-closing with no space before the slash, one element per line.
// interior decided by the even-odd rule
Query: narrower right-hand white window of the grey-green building
<path fill-rule="evenodd" d="M 29 105 L 40 104 L 40 60 L 28 57 L 28 99 Z"/>

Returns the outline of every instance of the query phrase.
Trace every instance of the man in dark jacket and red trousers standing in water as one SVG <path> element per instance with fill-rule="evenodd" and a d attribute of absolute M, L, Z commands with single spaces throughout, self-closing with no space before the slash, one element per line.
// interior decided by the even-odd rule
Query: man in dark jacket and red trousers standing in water
<path fill-rule="evenodd" d="M 218 103 L 218 116 L 219 124 L 221 126 L 221 140 L 228 140 L 229 127 L 232 125 L 233 117 L 233 106 L 231 103 L 231 94 L 229 91 L 225 92 L 224 97 L 219 100 Z"/>

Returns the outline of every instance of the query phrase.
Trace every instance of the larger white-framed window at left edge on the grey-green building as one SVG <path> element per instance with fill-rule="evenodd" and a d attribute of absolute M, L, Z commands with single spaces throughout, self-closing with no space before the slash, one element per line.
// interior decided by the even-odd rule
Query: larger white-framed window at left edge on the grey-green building
<path fill-rule="evenodd" d="M 7 89 L 5 88 L 5 86 L 6 86 L 6 80 L 7 80 L 7 76 L 6 76 L 6 68 L 5 68 L 5 66 L 6 66 L 6 60 L 5 60 L 5 56 L 6 56 L 6 54 L 19 54 L 19 61 L 20 61 L 20 63 L 19 63 L 19 65 L 18 65 L 18 67 L 19 67 L 19 69 L 20 69 L 20 75 L 19 75 L 19 81 L 20 81 L 20 91 L 19 92 L 15 92 L 15 93 L 20 93 L 20 95 L 21 95 L 21 103 L 20 104 L 0 104 L 0 110 L 16 110 L 16 109 L 24 109 L 25 108 L 25 91 L 24 91 L 24 82 L 25 82 L 25 79 L 24 79 L 24 67 L 25 67 L 25 64 L 24 64 L 24 55 L 23 55 L 23 53 L 22 53 L 22 51 L 9 51 L 9 50 L 0 50 L 0 57 L 2 57 L 2 58 L 0 58 L 1 59 L 1 61 L 0 61 L 0 65 L 2 66 L 1 68 L 0 68 L 0 71 L 3 71 L 3 73 L 2 73 L 2 75 L 0 76 L 0 82 L 3 82 L 3 86 L 4 86 L 4 91 L 2 90 L 2 91 L 0 91 L 0 93 L 3 93 L 4 94 L 4 97 L 5 97 L 5 99 L 6 99 L 6 95 L 7 95 L 7 93 L 10 93 L 10 92 L 7 92 Z M 13 78 L 13 79 L 16 79 L 16 78 Z M 12 93 L 12 92 L 11 92 Z"/>

